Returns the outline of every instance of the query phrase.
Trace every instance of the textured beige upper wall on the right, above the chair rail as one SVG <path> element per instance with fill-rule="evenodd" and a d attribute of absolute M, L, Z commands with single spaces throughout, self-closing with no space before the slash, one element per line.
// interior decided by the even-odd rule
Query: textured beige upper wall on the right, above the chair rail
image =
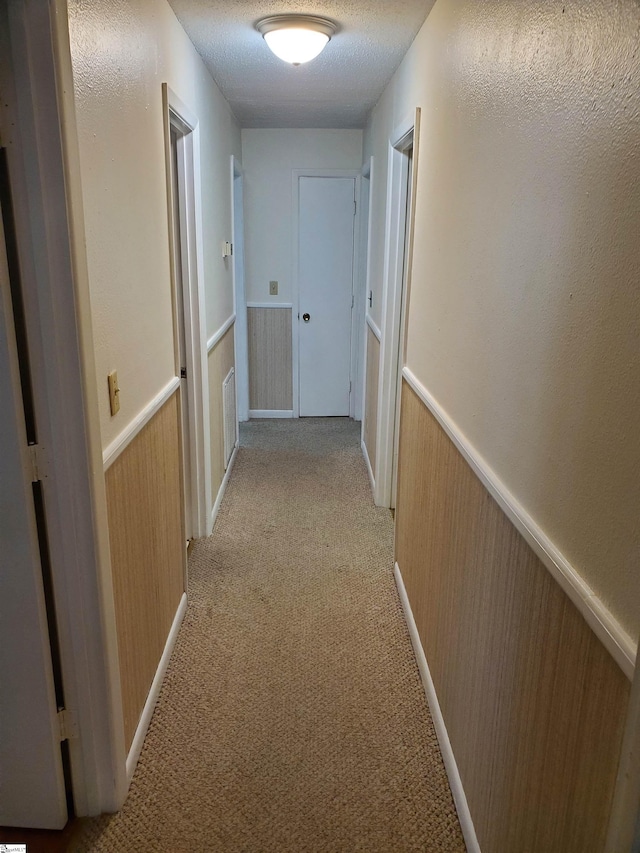
<path fill-rule="evenodd" d="M 635 639 L 639 28 L 632 0 L 438 0 L 365 135 L 386 183 L 423 110 L 409 367 Z"/>

